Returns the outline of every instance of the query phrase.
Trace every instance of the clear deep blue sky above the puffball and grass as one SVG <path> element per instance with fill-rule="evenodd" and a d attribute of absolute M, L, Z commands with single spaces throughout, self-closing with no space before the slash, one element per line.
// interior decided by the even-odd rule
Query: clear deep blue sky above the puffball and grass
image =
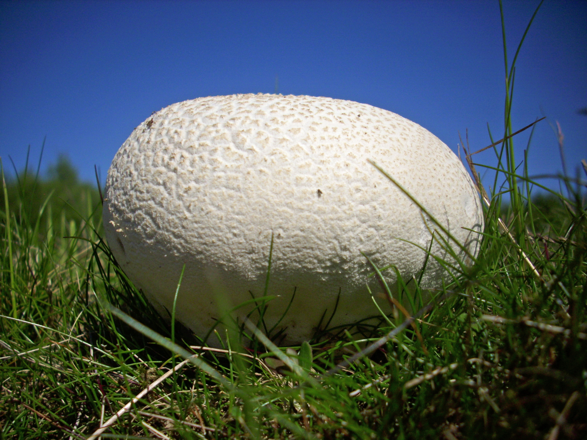
<path fill-rule="evenodd" d="M 537 1 L 504 1 L 510 60 Z M 546 1 L 517 62 L 514 130 L 559 121 L 587 159 L 587 2 Z M 85 180 L 151 112 L 232 93 L 328 96 L 394 111 L 456 151 L 503 133 L 497 1 L 0 1 L 0 156 L 43 169 L 69 155 Z M 527 133 L 515 139 L 518 158 Z M 539 123 L 529 172 L 561 171 Z M 493 164 L 492 153 L 477 160 Z M 553 182 L 550 183 L 552 185 Z"/>

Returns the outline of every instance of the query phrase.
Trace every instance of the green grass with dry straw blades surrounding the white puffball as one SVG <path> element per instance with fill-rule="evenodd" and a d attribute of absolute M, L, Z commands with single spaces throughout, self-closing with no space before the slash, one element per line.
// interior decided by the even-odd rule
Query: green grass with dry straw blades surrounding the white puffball
<path fill-rule="evenodd" d="M 585 438 L 585 180 L 533 195 L 514 140 L 492 147 L 496 165 L 468 156 L 474 175 L 495 172 L 471 268 L 410 319 L 397 307 L 329 329 L 326 316 L 300 347 L 276 347 L 257 314 L 231 326 L 230 311 L 227 345 L 200 347 L 117 266 L 97 191 L 67 167 L 3 179 L 0 435 L 89 438 L 114 416 L 102 438 Z"/>

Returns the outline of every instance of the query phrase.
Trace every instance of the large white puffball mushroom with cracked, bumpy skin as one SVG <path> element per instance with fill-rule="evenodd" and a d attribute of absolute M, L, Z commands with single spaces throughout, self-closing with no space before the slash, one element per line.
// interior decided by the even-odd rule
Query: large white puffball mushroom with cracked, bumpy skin
<path fill-rule="evenodd" d="M 426 266 L 427 289 L 448 278 L 426 259 L 431 242 L 432 254 L 455 263 L 431 217 L 368 160 L 463 245 L 449 240 L 470 263 L 483 215 L 456 155 L 391 111 L 312 96 L 212 96 L 153 113 L 112 161 L 106 238 L 129 279 L 167 319 L 185 265 L 176 318 L 200 337 L 221 317 L 219 296 L 238 306 L 264 295 L 273 238 L 266 294 L 278 297 L 266 304 L 264 319 L 274 326 L 295 292 L 278 329 L 286 328 L 283 343 L 299 343 L 321 319 L 325 325 L 337 297 L 331 327 L 379 314 L 366 282 L 390 312 L 361 252 L 379 267 L 395 265 L 405 282 Z M 396 272 L 384 276 L 395 295 Z M 242 321 L 253 307 L 234 314 Z"/>

